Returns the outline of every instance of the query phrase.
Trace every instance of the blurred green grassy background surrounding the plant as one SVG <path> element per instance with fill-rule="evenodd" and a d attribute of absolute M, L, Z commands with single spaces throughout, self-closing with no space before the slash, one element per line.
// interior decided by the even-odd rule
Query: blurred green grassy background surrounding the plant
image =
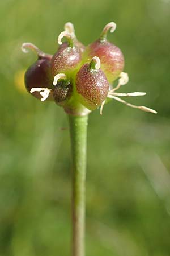
<path fill-rule="evenodd" d="M 147 92 L 90 114 L 87 162 L 88 256 L 170 255 L 170 1 L 2 0 L 0 3 L 0 255 L 70 255 L 71 158 L 66 114 L 25 92 L 32 42 L 54 53 L 65 22 L 84 44 L 104 25 L 122 49 L 130 81 Z"/>

